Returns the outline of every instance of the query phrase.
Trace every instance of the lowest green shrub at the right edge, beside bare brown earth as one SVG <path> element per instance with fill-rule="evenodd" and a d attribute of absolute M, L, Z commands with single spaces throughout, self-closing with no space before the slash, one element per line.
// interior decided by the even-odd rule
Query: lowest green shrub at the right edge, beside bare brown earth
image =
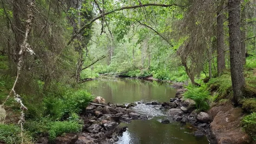
<path fill-rule="evenodd" d="M 249 114 L 248 116 L 243 117 L 242 125 L 245 132 L 247 132 L 250 137 L 256 140 L 256 113 L 254 112 Z"/>

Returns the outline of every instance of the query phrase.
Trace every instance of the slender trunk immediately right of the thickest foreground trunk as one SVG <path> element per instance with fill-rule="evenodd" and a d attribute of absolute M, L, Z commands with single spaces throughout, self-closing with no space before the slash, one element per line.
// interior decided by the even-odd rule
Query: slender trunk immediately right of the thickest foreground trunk
<path fill-rule="evenodd" d="M 242 2 L 244 2 L 244 0 L 242 0 Z M 246 49 L 245 49 L 245 41 L 243 41 L 244 39 L 246 39 L 246 11 L 245 11 L 245 7 L 242 7 L 242 12 L 241 12 L 241 53 L 242 53 L 242 64 L 245 65 L 246 64 L 246 59 L 245 59 L 245 53 L 246 53 Z"/>

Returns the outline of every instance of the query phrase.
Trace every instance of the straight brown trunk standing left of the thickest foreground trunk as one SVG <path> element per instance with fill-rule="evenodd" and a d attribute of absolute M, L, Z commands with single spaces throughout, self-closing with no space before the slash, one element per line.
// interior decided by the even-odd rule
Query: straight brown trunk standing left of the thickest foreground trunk
<path fill-rule="evenodd" d="M 226 69 L 224 55 L 224 29 L 223 29 L 223 4 L 217 12 L 217 73 L 220 75 Z"/>

